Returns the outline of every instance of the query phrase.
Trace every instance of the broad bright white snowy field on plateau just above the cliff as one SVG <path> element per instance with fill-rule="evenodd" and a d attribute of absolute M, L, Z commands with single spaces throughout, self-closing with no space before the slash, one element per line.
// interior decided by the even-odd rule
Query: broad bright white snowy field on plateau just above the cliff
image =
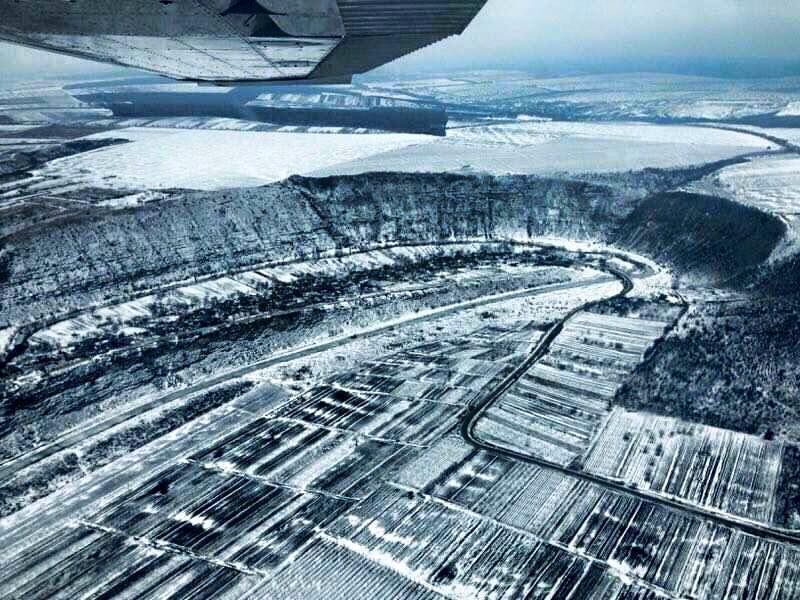
<path fill-rule="evenodd" d="M 257 186 L 291 175 L 369 171 L 549 174 L 672 167 L 763 150 L 746 133 L 638 123 L 518 121 L 414 134 L 131 127 L 91 136 L 129 144 L 55 160 L 47 180 L 157 190 Z"/>

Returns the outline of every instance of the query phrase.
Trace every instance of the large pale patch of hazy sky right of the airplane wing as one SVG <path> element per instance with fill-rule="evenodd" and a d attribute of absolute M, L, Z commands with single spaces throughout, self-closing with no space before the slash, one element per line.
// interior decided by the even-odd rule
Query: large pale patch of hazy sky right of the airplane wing
<path fill-rule="evenodd" d="M 503 56 L 800 57 L 797 0 L 490 0 L 474 51 Z"/>

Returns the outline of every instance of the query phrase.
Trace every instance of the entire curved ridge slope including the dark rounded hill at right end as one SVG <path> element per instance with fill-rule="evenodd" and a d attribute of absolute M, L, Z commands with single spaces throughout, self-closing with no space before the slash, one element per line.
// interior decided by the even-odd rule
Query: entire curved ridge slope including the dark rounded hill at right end
<path fill-rule="evenodd" d="M 4 238 L 0 326 L 336 248 L 559 236 L 614 242 L 723 280 L 782 235 L 776 218 L 733 202 L 654 195 L 664 180 L 373 173 L 92 207 Z"/>

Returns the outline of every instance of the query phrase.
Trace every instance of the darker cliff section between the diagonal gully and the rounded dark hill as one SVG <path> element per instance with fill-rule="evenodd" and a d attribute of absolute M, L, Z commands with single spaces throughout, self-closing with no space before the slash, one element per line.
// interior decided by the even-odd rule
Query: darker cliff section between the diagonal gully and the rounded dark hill
<path fill-rule="evenodd" d="M 290 180 L 343 243 L 597 238 L 624 210 L 608 186 L 536 177 L 373 173 Z"/>

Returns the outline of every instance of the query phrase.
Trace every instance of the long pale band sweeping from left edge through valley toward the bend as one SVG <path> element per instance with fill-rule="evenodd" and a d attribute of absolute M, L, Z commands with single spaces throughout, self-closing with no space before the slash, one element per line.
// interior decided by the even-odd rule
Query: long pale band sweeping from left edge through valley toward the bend
<path fill-rule="evenodd" d="M 281 354 L 274 354 L 264 360 L 251 363 L 249 365 L 240 367 L 238 369 L 234 369 L 232 371 L 227 371 L 221 375 L 212 377 L 210 379 L 205 379 L 189 387 L 182 388 L 174 392 L 170 392 L 163 396 L 159 396 L 156 399 L 137 405 L 127 411 L 118 413 L 113 417 L 109 417 L 97 423 L 88 424 L 78 429 L 68 431 L 63 435 L 61 435 L 60 437 L 53 440 L 52 442 L 40 446 L 39 448 L 36 448 L 26 454 L 11 458 L 7 461 L 0 463 L 0 480 L 8 480 L 11 477 L 13 477 L 15 473 L 21 471 L 22 469 L 28 468 L 38 462 L 50 458 L 51 456 L 58 454 L 59 452 L 68 450 L 72 446 L 80 442 L 86 441 L 92 436 L 101 434 L 111 429 L 112 427 L 116 427 L 117 425 L 124 423 L 125 421 L 135 419 L 136 417 L 139 417 L 142 414 L 154 408 L 158 408 L 169 402 L 180 400 L 181 398 L 185 398 L 191 396 L 192 394 L 201 392 L 203 390 L 216 387 L 222 383 L 226 383 L 234 379 L 243 377 L 245 375 L 249 375 L 250 373 L 253 373 L 255 371 L 266 369 L 267 367 L 272 367 L 274 365 L 278 365 L 281 363 L 286 363 L 299 358 L 311 356 L 313 354 L 318 354 L 320 352 L 324 352 L 326 350 L 331 350 L 338 346 L 348 344 L 355 340 L 363 340 L 376 337 L 396 327 L 405 327 L 407 325 L 415 325 L 423 323 L 425 321 L 438 319 L 453 313 L 460 312 L 462 310 L 478 308 L 481 306 L 496 304 L 499 302 L 505 302 L 507 300 L 513 300 L 516 298 L 539 296 L 542 294 L 547 294 L 559 290 L 573 289 L 599 283 L 605 283 L 607 281 L 612 281 L 612 280 L 613 280 L 612 278 L 609 278 L 607 276 L 598 276 L 591 279 L 585 279 L 580 281 L 555 283 L 545 286 L 538 286 L 535 288 L 525 288 L 513 292 L 505 292 L 503 294 L 485 296 L 483 298 L 477 298 L 475 300 L 468 300 L 465 302 L 459 302 L 457 304 L 450 304 L 447 306 L 443 306 L 438 309 L 434 309 L 431 312 L 425 313 L 423 315 L 414 316 L 407 320 L 403 320 L 401 322 L 385 323 L 382 325 L 378 325 L 374 328 L 367 329 L 366 331 L 362 331 L 352 335 L 340 336 L 319 344 L 313 344 L 311 346 L 303 346 L 301 348 L 290 350 L 288 352 L 284 352 Z"/>

